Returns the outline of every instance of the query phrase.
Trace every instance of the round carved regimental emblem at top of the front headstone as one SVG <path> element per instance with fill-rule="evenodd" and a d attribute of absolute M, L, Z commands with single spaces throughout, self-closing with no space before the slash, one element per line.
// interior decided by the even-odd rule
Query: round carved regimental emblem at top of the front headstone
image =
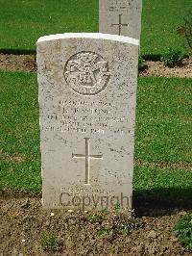
<path fill-rule="evenodd" d="M 64 77 L 77 93 L 96 95 L 108 86 L 108 62 L 93 52 L 77 53 L 65 64 Z"/>

